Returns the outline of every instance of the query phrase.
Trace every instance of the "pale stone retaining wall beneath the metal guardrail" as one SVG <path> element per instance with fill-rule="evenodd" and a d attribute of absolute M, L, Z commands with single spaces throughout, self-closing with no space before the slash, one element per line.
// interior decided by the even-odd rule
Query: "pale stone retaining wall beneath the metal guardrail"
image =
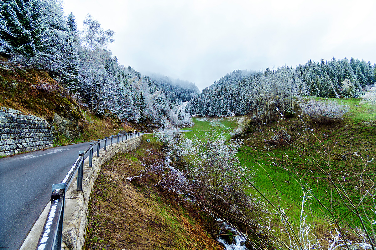
<path fill-rule="evenodd" d="M 112 144 L 112 147 L 107 146 L 106 151 L 102 148 L 99 152 L 99 157 L 96 156 L 97 151 L 94 150 L 92 168 L 89 168 L 89 157 L 86 158 L 83 167 L 82 191 L 76 191 L 77 178 L 75 178 L 65 193 L 63 239 L 61 250 L 80 250 L 85 243 L 90 194 L 103 163 L 107 162 L 119 152 L 127 153 L 135 148 L 138 148 L 138 146 L 141 144 L 141 139 L 142 136 L 138 136 L 124 142 L 114 143 Z M 50 202 L 47 204 L 47 207 L 44 209 L 42 215 L 39 216 L 20 250 L 36 248 L 36 244 L 38 243 L 37 241 L 41 235 L 42 227 L 44 226 L 44 222 L 47 217 L 49 205 Z"/>

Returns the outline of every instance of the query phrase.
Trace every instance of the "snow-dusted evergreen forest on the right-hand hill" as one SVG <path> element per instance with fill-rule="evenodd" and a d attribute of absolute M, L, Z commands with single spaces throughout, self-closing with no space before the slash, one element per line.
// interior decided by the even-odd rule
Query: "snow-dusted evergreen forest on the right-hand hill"
<path fill-rule="evenodd" d="M 351 58 L 304 66 L 267 68 L 263 72 L 234 70 L 196 95 L 187 105 L 191 114 L 231 116 L 250 114 L 270 122 L 294 112 L 293 97 L 359 97 L 376 82 L 376 66 Z"/>

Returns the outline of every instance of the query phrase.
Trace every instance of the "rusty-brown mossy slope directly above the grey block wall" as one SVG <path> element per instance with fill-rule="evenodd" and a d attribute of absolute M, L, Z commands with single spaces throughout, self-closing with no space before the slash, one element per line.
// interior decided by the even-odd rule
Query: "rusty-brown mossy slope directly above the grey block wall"
<path fill-rule="evenodd" d="M 50 76 L 37 69 L 17 67 L 0 70 L 0 105 L 18 109 L 47 120 L 58 113 L 66 117 L 72 110 L 76 120 L 83 120 L 79 106 Z"/>

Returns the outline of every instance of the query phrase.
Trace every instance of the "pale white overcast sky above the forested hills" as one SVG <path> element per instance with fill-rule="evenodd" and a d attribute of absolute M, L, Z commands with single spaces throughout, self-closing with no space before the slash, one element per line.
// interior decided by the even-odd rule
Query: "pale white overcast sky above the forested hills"
<path fill-rule="evenodd" d="M 335 57 L 376 63 L 375 0 L 64 0 L 77 25 L 90 15 L 115 31 L 108 48 L 145 74 L 195 82 L 232 70 L 295 67 Z"/>

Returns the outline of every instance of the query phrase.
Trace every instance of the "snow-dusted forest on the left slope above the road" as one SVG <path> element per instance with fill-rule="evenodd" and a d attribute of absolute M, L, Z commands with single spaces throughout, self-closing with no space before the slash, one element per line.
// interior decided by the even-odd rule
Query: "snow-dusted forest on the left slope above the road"
<path fill-rule="evenodd" d="M 175 100 L 190 99 L 190 92 L 171 87 L 167 97 L 160 86 L 167 90 L 168 83 L 120 65 L 107 49 L 114 34 L 90 15 L 79 31 L 73 13 L 65 16 L 56 0 L 0 2 L 0 54 L 10 63 L 46 70 L 93 114 L 107 109 L 135 123 L 186 121 Z"/>

